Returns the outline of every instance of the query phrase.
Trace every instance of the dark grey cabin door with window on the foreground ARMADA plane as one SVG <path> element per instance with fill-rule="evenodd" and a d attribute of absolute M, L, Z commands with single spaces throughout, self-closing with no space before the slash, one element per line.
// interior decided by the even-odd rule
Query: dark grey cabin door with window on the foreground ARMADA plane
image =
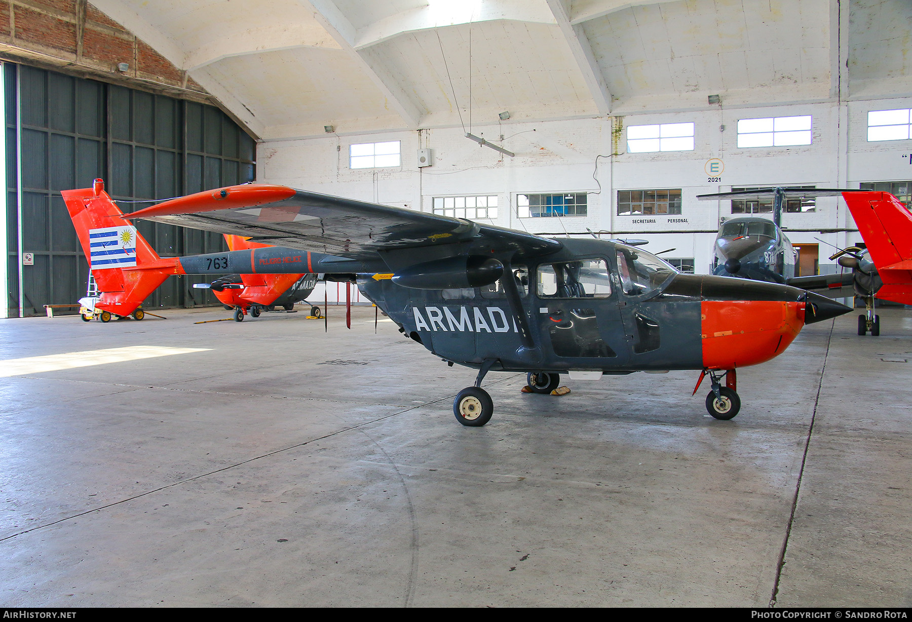
<path fill-rule="evenodd" d="M 617 292 L 605 259 L 541 264 L 535 306 L 556 368 L 617 368 L 629 358 Z"/>

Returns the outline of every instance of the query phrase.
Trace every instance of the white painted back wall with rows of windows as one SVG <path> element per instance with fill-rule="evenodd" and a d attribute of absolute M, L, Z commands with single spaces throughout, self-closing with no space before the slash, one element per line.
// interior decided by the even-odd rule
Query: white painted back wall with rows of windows
<path fill-rule="evenodd" d="M 389 131 L 308 140 L 260 143 L 258 181 L 283 183 L 369 202 L 431 211 L 432 199 L 443 195 L 497 194 L 495 224 L 531 233 L 604 231 L 606 237 L 641 237 L 648 250 L 675 251 L 665 257 L 694 257 L 697 272 L 710 271 L 712 244 L 720 216 L 731 216 L 730 202 L 700 202 L 696 195 L 725 192 L 732 186 L 816 185 L 819 188 L 857 188 L 864 181 L 912 180 L 909 153 L 912 140 L 867 142 L 869 110 L 912 108 L 912 98 L 877 98 L 848 103 L 823 101 L 793 105 L 711 107 L 628 115 L 630 125 L 696 123 L 695 149 L 668 153 L 624 153 L 626 131 L 619 140 L 620 155 L 612 152 L 612 119 L 566 119 L 535 123 L 476 124 L 473 133 L 513 150 L 515 158 L 480 147 L 463 136 L 461 128 Z M 788 148 L 737 149 L 738 119 L 812 115 L 813 143 Z M 724 126 L 725 130 L 720 130 Z M 401 140 L 402 164 L 392 169 L 350 170 L 348 146 L 359 142 Z M 846 145 L 845 150 L 839 145 Z M 416 151 L 433 150 L 433 166 L 419 169 Z M 599 158 L 596 168 L 596 156 Z M 720 183 L 710 183 L 706 161 L 725 163 Z M 599 190 L 599 184 L 601 189 Z M 682 189 L 679 216 L 631 217 L 616 214 L 618 190 Z M 515 197 L 521 192 L 590 192 L 586 217 L 520 219 Z M 686 222 L 672 222 L 674 218 Z M 635 220 L 654 223 L 634 223 Z M 819 198 L 814 213 L 785 213 L 793 243 L 824 242 L 845 246 L 860 242 L 851 215 L 840 198 Z M 849 231 L 845 231 L 845 230 Z M 821 233 L 824 230 L 836 232 Z M 841 230 L 841 231 L 840 231 Z M 681 232 L 681 233 L 675 233 Z M 821 247 L 821 271 L 826 247 Z M 335 294 L 329 288 L 330 300 Z M 322 291 L 319 292 L 322 297 Z M 315 293 L 316 295 L 316 293 Z M 343 298 L 344 300 L 344 295 Z"/>

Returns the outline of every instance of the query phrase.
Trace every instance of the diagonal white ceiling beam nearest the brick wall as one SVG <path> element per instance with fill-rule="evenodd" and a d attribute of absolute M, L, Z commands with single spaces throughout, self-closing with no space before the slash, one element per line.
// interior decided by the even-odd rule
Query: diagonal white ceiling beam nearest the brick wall
<path fill-rule="evenodd" d="M 99 11 L 127 28 L 134 35 L 140 37 L 152 49 L 167 58 L 174 67 L 184 66 L 187 59 L 186 50 L 176 41 L 162 34 L 158 28 L 152 26 L 139 13 L 120 0 L 92 0 L 92 5 L 95 5 Z M 263 135 L 266 129 L 264 123 L 257 119 L 251 109 L 235 98 L 227 88 L 224 88 L 216 79 L 212 78 L 205 68 L 189 73 L 194 80 L 200 83 L 202 88 L 209 91 L 213 98 L 218 99 L 235 119 L 244 123 L 255 135 Z"/>

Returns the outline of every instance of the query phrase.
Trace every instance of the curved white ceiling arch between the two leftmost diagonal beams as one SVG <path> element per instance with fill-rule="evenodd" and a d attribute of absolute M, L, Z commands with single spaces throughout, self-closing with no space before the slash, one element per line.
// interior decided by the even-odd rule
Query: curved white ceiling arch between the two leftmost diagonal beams
<path fill-rule="evenodd" d="M 183 68 L 193 71 L 223 58 L 240 57 L 263 52 L 277 52 L 298 47 L 330 47 L 341 49 L 336 40 L 323 28 L 313 25 L 286 24 L 267 28 L 244 29 L 220 36 L 187 54 Z"/>

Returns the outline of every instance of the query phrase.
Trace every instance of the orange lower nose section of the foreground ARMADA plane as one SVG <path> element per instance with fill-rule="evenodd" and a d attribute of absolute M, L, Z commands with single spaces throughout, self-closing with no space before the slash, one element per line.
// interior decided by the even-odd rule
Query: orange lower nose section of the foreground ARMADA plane
<path fill-rule="evenodd" d="M 781 354 L 804 326 L 804 303 L 710 300 L 701 304 L 703 367 L 734 369 Z"/>

